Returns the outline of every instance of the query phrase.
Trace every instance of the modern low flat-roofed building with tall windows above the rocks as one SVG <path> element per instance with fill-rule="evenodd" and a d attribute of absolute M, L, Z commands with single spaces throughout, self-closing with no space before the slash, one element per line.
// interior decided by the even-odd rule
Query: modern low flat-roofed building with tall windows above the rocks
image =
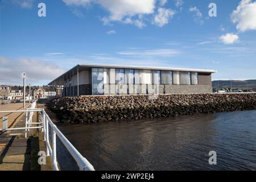
<path fill-rule="evenodd" d="M 211 93 L 209 69 L 78 64 L 48 85 L 63 96 Z"/>

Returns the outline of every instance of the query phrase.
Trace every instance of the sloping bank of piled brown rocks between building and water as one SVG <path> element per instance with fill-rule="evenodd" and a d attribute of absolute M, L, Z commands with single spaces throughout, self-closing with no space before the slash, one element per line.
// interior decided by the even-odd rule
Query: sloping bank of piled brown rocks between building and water
<path fill-rule="evenodd" d="M 61 97 L 49 108 L 61 122 L 133 121 L 177 115 L 255 110 L 256 93 Z"/>

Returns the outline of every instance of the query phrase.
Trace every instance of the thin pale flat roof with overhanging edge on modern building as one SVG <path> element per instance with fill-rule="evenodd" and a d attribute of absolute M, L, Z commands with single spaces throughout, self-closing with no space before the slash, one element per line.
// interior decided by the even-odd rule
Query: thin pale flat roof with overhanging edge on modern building
<path fill-rule="evenodd" d="M 101 67 L 101 68 L 130 68 L 130 69 L 154 69 L 154 70 L 170 70 L 170 71 L 187 71 L 187 72 L 200 72 L 200 73 L 216 73 L 216 70 L 213 69 L 193 69 L 193 68 L 172 68 L 172 67 L 147 67 L 147 66 L 138 66 L 138 65 L 114 65 L 114 64 L 77 64 L 75 67 L 69 69 L 69 71 L 63 73 L 61 76 L 65 75 L 68 72 L 71 72 L 77 67 Z M 57 77 L 55 80 L 59 79 L 61 76 Z M 53 80 L 53 81 L 55 81 Z M 51 81 L 48 85 L 51 85 Z"/>

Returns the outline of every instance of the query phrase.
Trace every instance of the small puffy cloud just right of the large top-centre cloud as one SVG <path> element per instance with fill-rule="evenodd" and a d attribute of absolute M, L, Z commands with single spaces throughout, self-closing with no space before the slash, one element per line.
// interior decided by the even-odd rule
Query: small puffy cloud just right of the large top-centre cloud
<path fill-rule="evenodd" d="M 155 15 L 153 23 L 159 27 L 163 27 L 165 24 L 168 24 L 169 19 L 171 19 L 174 16 L 174 14 L 175 11 L 160 7 L 158 9 L 158 14 Z"/>

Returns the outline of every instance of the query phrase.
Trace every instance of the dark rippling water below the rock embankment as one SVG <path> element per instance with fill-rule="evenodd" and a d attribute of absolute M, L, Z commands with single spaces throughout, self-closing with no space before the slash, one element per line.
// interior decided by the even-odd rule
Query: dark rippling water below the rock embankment
<path fill-rule="evenodd" d="M 96 170 L 256 169 L 256 110 L 58 127 Z M 58 153 L 62 169 L 77 169 Z"/>

